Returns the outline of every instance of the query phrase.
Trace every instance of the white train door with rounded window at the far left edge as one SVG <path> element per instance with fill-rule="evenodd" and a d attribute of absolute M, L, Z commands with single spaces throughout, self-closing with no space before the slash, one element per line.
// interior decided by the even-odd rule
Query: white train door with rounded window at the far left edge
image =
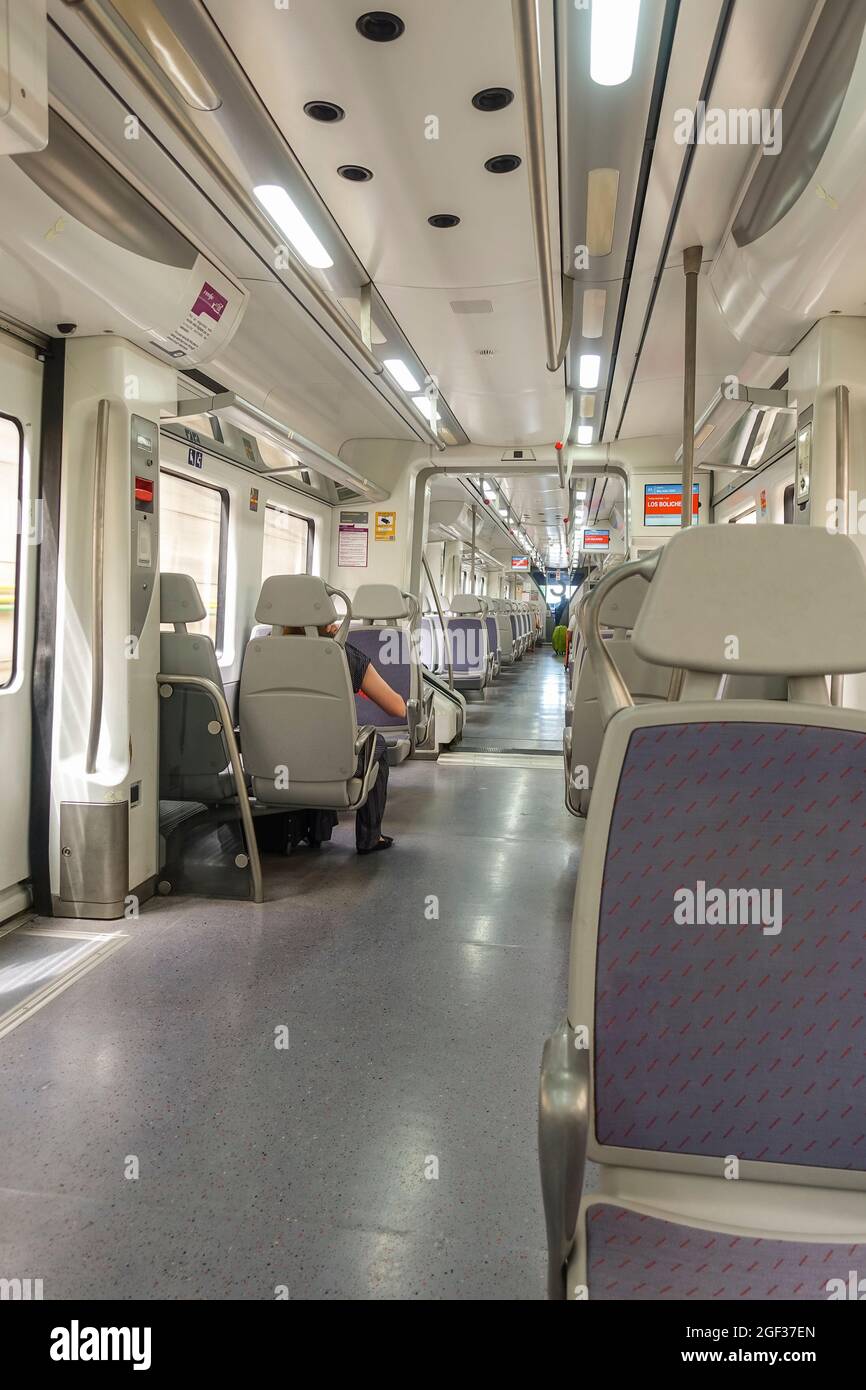
<path fill-rule="evenodd" d="M 33 628 L 40 514 L 36 506 L 42 363 L 0 338 L 0 922 L 29 903 Z"/>

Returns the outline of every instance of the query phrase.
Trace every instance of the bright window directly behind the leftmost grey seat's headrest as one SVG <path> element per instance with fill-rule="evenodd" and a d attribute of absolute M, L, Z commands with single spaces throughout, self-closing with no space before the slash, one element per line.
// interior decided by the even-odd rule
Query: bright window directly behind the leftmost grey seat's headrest
<path fill-rule="evenodd" d="M 190 632 L 207 632 L 222 648 L 228 498 L 220 488 L 160 474 L 160 570 L 190 574 L 207 617 Z"/>

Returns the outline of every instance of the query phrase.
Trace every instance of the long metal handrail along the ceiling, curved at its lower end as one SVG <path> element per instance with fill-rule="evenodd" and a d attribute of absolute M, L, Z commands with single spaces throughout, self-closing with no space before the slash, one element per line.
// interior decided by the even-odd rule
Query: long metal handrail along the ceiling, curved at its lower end
<path fill-rule="evenodd" d="M 541 35 L 538 0 L 512 0 L 517 67 L 523 88 L 523 117 L 530 177 L 530 208 L 535 234 L 535 256 L 541 282 L 548 371 L 559 371 L 569 346 L 570 328 L 564 313 L 562 334 L 556 332 L 556 279 L 550 254 L 550 213 L 548 204 L 548 160 L 545 153 L 544 99 L 541 83 Z"/>

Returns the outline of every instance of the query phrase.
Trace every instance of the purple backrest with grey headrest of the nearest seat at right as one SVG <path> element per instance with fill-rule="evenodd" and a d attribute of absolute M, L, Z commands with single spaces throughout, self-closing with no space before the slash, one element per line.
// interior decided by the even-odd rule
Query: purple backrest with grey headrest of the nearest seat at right
<path fill-rule="evenodd" d="M 784 676 L 787 702 L 637 708 L 596 669 L 569 999 L 595 1017 L 588 1155 L 716 1176 L 737 1155 L 742 1177 L 866 1190 L 866 712 L 826 684 L 866 670 L 866 566 L 847 537 L 745 531 L 667 543 L 632 646 L 716 687 L 734 660 Z"/>

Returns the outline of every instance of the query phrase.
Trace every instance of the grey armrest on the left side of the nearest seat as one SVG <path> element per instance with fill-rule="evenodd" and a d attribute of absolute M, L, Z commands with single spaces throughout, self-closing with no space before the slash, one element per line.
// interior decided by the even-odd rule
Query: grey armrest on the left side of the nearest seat
<path fill-rule="evenodd" d="M 538 1090 L 538 1156 L 548 1226 L 548 1295 L 566 1297 L 589 1136 L 589 1049 L 566 1019 L 545 1042 Z"/>

